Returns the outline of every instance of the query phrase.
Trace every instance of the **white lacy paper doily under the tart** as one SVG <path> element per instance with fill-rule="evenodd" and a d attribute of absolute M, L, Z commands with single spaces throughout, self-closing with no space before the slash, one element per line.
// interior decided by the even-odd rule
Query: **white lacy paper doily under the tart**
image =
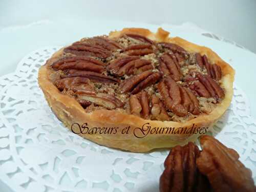
<path fill-rule="evenodd" d="M 0 179 L 13 190 L 37 192 L 158 191 L 168 150 L 122 152 L 83 139 L 62 126 L 37 84 L 37 72 L 58 47 L 34 51 L 0 78 Z M 256 180 L 256 121 L 245 94 L 213 134 L 234 148 Z"/>

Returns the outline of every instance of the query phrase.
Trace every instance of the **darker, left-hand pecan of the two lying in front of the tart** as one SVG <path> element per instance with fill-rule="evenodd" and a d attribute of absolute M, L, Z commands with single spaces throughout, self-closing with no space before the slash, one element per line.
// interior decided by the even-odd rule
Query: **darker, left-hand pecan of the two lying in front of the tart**
<path fill-rule="evenodd" d="M 199 148 L 192 142 L 175 146 L 164 161 L 164 172 L 160 177 L 160 192 L 210 191 L 207 178 L 196 166 Z"/>

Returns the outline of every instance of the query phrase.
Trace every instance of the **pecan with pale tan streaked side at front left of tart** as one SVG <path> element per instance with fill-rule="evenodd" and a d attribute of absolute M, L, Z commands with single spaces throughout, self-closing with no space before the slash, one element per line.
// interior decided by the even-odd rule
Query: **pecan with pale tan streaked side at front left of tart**
<path fill-rule="evenodd" d="M 105 93 L 98 93 L 96 95 L 78 95 L 77 99 L 90 101 L 110 110 L 121 108 L 123 106 L 123 103 L 117 97 Z"/>

